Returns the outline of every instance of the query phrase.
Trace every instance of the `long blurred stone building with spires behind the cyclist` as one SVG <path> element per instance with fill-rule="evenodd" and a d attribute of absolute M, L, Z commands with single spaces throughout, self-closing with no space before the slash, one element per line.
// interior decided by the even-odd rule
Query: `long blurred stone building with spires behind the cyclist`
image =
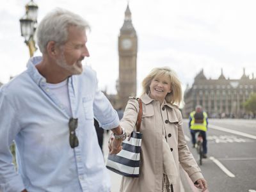
<path fill-rule="evenodd" d="M 221 69 L 218 79 L 207 79 L 204 70 L 196 75 L 191 88 L 187 86 L 184 93 L 185 106 L 182 109 L 184 117 L 200 104 L 210 117 L 243 118 L 246 111 L 243 102 L 256 93 L 256 79 L 246 76 L 245 70 L 240 79 L 226 79 Z"/>

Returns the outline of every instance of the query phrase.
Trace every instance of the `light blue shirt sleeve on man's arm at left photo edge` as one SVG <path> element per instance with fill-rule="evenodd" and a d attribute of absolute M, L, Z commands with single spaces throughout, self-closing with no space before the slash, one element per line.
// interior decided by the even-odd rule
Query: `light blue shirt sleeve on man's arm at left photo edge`
<path fill-rule="evenodd" d="M 0 89 L 0 191 L 22 191 L 25 189 L 20 175 L 12 164 L 10 145 L 19 133 L 19 115 L 3 89 Z"/>

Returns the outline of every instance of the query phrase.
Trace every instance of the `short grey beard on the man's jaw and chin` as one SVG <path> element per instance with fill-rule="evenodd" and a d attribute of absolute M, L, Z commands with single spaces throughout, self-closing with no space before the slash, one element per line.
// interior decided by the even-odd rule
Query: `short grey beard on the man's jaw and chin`
<path fill-rule="evenodd" d="M 84 58 L 81 58 L 79 61 L 76 61 L 76 63 L 72 65 L 68 65 L 67 61 L 65 60 L 64 53 L 61 53 L 61 58 L 58 58 L 56 60 L 56 63 L 58 66 L 65 68 L 68 72 L 70 72 L 72 75 L 79 75 L 83 72 L 83 66 L 82 66 L 82 60 Z"/>

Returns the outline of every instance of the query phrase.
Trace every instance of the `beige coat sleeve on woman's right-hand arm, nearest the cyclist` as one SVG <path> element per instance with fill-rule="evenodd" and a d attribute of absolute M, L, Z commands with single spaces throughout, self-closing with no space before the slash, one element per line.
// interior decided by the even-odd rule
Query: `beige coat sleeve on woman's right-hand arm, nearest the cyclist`
<path fill-rule="evenodd" d="M 178 151 L 179 151 L 179 161 L 180 165 L 184 170 L 188 173 L 190 179 L 193 181 L 193 183 L 196 182 L 196 180 L 204 178 L 204 176 L 201 173 L 200 168 L 198 167 L 198 164 L 196 163 L 193 155 L 189 151 L 188 145 L 186 144 L 184 132 L 183 132 L 183 121 L 182 121 L 182 115 L 177 109 L 177 117 L 179 119 L 178 123 Z"/>

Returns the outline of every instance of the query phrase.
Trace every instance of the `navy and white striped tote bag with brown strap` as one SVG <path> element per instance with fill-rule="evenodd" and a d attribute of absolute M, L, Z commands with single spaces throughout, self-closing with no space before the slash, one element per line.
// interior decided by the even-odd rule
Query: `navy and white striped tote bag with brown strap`
<path fill-rule="evenodd" d="M 136 131 L 132 132 L 122 142 L 122 150 L 118 154 L 108 155 L 106 167 L 120 175 L 126 177 L 139 177 L 140 175 L 140 150 L 142 133 L 140 133 L 140 124 L 142 116 L 142 103 L 139 102 L 139 113 L 136 122 Z"/>

